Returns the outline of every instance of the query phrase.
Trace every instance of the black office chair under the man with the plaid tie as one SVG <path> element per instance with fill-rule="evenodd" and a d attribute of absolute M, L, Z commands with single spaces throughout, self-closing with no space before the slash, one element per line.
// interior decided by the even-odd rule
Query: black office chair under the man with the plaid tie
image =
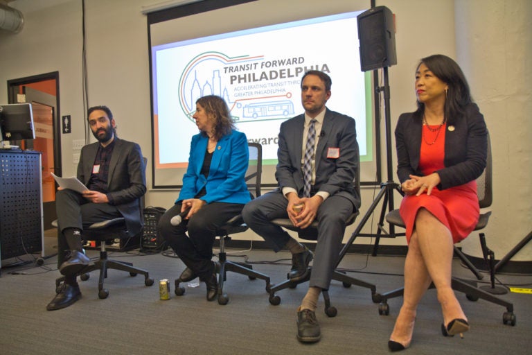
<path fill-rule="evenodd" d="M 360 168 L 357 169 L 357 177 L 355 178 L 355 189 L 357 189 L 357 191 L 360 193 Z M 351 214 L 351 216 L 349 216 L 348 220 L 346 221 L 346 225 L 352 225 L 355 222 L 355 219 L 357 218 L 358 215 L 359 215 L 359 211 L 356 211 L 355 213 Z M 283 227 L 287 230 L 297 232 L 300 239 L 305 239 L 305 240 L 310 240 L 310 241 L 317 241 L 318 239 L 318 236 L 317 236 L 318 223 L 316 220 L 314 220 L 314 222 L 312 222 L 312 224 L 309 227 L 305 228 L 304 230 L 294 227 L 294 225 L 292 225 L 292 221 L 289 218 L 276 218 L 272 220 L 272 223 L 280 227 Z M 337 265 L 340 263 L 340 261 L 341 259 L 337 262 Z M 299 281 L 292 282 L 290 278 L 288 278 L 288 275 L 287 275 L 287 280 L 285 280 L 284 282 L 281 282 L 281 284 L 276 284 L 272 288 L 270 288 L 269 303 L 274 306 L 281 303 L 281 297 L 275 294 L 277 291 L 284 290 L 285 288 L 295 288 L 298 284 L 307 282 L 310 279 L 310 275 L 312 273 L 311 266 L 309 266 L 309 270 L 310 272 L 308 272 L 308 276 Z M 351 287 L 351 285 L 369 288 L 371 290 L 371 299 L 373 300 L 373 302 L 379 302 L 380 300 L 380 296 L 378 295 L 378 293 L 376 293 L 376 288 L 375 288 L 375 285 L 373 284 L 369 284 L 362 280 L 349 277 L 348 275 L 346 275 L 345 272 L 342 272 L 339 270 L 335 270 L 334 272 L 332 272 L 332 279 L 335 281 L 342 282 L 342 284 L 346 288 Z M 329 297 L 328 291 L 323 290 L 322 295 L 323 295 L 323 301 L 325 302 L 326 315 L 328 315 L 329 317 L 335 317 L 335 315 L 337 314 L 337 309 L 334 306 L 330 306 L 330 297 Z"/>

